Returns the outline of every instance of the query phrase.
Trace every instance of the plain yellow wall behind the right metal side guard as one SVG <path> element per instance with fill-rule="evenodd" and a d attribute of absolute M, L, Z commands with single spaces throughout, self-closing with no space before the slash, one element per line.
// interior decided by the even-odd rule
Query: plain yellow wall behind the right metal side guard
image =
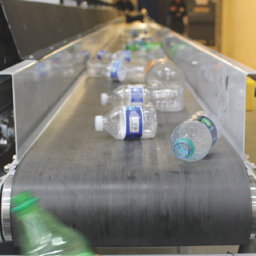
<path fill-rule="evenodd" d="M 220 51 L 256 69 L 256 0 L 222 0 Z"/>

